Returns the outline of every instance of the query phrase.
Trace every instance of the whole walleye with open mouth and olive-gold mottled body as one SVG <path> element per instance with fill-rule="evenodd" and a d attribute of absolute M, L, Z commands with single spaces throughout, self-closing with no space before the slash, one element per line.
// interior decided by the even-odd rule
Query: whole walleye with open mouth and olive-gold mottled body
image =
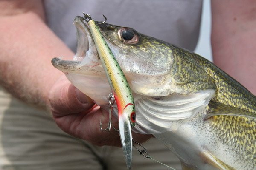
<path fill-rule="evenodd" d="M 111 88 L 84 18 L 73 61 L 53 58 L 76 88 L 108 110 Z M 256 96 L 212 62 L 127 27 L 99 30 L 131 87 L 137 133 L 153 134 L 183 170 L 256 169 Z M 117 108 L 114 107 L 117 114 Z"/>

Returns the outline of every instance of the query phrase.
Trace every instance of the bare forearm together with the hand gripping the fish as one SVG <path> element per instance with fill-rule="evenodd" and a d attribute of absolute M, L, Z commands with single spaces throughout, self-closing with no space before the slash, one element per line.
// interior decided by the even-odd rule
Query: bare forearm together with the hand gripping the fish
<path fill-rule="evenodd" d="M 108 113 L 52 66 L 53 57 L 74 54 L 47 27 L 41 0 L 0 0 L 0 23 L 0 84 L 22 101 L 50 110 L 66 133 L 99 146 L 120 147 L 118 132 L 100 130 L 101 119 L 108 124 Z M 140 143 L 150 137 L 133 134 Z"/>

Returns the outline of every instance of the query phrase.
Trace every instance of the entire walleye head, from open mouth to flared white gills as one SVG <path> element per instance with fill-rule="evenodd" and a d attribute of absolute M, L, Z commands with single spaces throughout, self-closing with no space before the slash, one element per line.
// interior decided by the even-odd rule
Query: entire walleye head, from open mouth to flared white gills
<path fill-rule="evenodd" d="M 52 65 L 64 72 L 67 79 L 97 105 L 108 110 L 109 94 L 112 91 L 90 29 L 83 17 L 76 17 L 74 25 L 77 30 L 77 52 L 74 59 L 67 61 L 53 58 Z M 211 89 L 212 80 L 204 88 L 190 83 L 194 81 L 191 76 L 194 73 L 187 71 L 183 74 L 183 71 L 192 70 L 192 66 L 189 62 L 185 63 L 187 67 L 180 66 L 180 62 L 185 62 L 178 57 L 182 49 L 140 34 L 133 28 L 108 23 L 98 26 L 132 90 L 137 115 L 136 132 L 160 133 L 170 124 L 174 125 L 172 120 L 186 119 L 198 111 L 199 108 L 189 100 L 193 98 L 198 102 L 197 97 L 205 94 L 200 93 L 200 90 Z M 204 78 L 204 74 L 201 76 Z M 198 76 L 196 79 L 203 79 L 202 77 Z M 199 101 L 198 105 L 201 107 L 207 105 L 205 101 L 209 102 L 214 91 L 207 94 L 207 100 L 204 98 Z M 184 95 L 192 96 L 185 98 Z M 184 108 L 185 105 L 187 106 Z M 186 108 L 190 110 L 186 111 Z M 130 122 L 131 125 L 134 124 L 131 119 Z"/>

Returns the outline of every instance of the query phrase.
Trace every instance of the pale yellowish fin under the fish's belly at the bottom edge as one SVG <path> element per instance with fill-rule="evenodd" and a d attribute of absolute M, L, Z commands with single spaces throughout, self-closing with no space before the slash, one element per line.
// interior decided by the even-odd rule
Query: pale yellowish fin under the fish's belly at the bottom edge
<path fill-rule="evenodd" d="M 229 165 L 225 164 L 220 159 L 216 158 L 212 153 L 205 150 L 203 153 L 201 153 L 201 158 L 207 163 L 212 165 L 213 167 L 216 167 L 219 170 L 235 170 L 233 167 L 230 167 Z"/>

